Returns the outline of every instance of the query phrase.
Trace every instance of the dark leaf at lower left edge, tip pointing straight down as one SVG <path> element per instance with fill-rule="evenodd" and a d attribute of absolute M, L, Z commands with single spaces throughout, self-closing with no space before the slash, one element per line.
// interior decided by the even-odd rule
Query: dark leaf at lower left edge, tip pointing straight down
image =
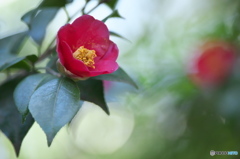
<path fill-rule="evenodd" d="M 15 79 L 0 86 L 0 129 L 12 142 L 18 155 L 24 137 L 34 120 L 28 115 L 26 122 L 21 122 L 21 116 L 13 101 L 13 91 L 21 79 Z"/>

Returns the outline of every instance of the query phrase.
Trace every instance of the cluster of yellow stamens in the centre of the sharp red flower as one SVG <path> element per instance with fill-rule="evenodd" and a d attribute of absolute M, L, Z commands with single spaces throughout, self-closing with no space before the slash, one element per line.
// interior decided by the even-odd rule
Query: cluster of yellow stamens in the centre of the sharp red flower
<path fill-rule="evenodd" d="M 73 53 L 73 57 L 82 61 L 87 67 L 95 68 L 93 60 L 97 57 L 95 50 L 88 50 L 81 46 Z"/>

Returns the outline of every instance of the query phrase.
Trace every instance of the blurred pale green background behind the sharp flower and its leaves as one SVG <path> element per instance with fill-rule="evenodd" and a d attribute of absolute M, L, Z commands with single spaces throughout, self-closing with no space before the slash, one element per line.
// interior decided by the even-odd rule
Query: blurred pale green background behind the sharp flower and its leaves
<path fill-rule="evenodd" d="M 0 38 L 26 30 L 20 19 L 39 3 L 0 0 Z M 74 0 L 66 9 L 73 15 L 83 5 Z M 211 150 L 240 152 L 239 7 L 238 0 L 119 0 L 124 19 L 106 25 L 128 39 L 111 38 L 119 65 L 139 89 L 105 82 L 110 116 L 85 102 L 50 148 L 35 123 L 19 159 L 207 159 Z M 101 5 L 91 15 L 102 20 L 110 13 Z M 43 50 L 66 19 L 60 10 Z M 37 54 L 31 39 L 20 54 L 29 52 Z M 15 158 L 1 133 L 0 159 Z"/>

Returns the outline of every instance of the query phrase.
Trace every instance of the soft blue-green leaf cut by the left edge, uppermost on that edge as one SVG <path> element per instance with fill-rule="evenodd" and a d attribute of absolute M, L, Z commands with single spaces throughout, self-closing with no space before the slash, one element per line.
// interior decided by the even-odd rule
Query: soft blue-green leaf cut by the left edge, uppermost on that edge
<path fill-rule="evenodd" d="M 19 48 L 24 42 L 27 32 L 17 33 L 5 38 L 0 39 L 0 54 L 12 53 L 16 54 L 19 52 Z"/>

